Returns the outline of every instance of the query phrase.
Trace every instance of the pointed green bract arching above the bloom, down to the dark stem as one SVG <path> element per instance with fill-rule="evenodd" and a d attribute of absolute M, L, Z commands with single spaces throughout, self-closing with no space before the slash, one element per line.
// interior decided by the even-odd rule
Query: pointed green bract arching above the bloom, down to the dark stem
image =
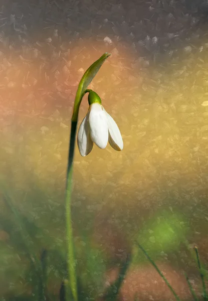
<path fill-rule="evenodd" d="M 110 56 L 110 53 L 105 52 L 97 61 L 95 61 L 84 73 L 75 97 L 75 103 L 74 103 L 74 111 L 72 115 L 72 121 L 77 121 L 78 119 L 78 113 L 79 113 L 79 106 L 82 100 L 82 97 L 85 94 L 85 90 L 99 71 L 102 64 L 105 62 L 105 60 Z"/>

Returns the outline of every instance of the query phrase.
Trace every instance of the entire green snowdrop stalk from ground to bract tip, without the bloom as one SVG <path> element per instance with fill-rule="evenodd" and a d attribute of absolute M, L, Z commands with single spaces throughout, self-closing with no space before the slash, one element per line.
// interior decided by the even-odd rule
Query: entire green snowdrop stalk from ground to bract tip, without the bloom
<path fill-rule="evenodd" d="M 69 283 L 70 285 L 73 301 L 78 301 L 78 293 L 77 293 L 76 261 L 74 257 L 74 241 L 73 241 L 72 219 L 71 219 L 71 193 L 72 193 L 72 175 L 73 175 L 75 137 L 77 131 L 79 107 L 84 94 L 89 92 L 89 90 L 86 90 L 88 85 L 95 77 L 95 75 L 99 71 L 104 61 L 109 56 L 110 56 L 109 53 L 107 52 L 104 53 L 84 73 L 77 89 L 75 102 L 74 102 L 74 110 L 73 110 L 73 115 L 71 120 L 71 133 L 70 133 L 70 145 L 69 145 L 67 181 L 66 181 L 67 267 L 68 267 L 68 279 L 69 279 L 68 281 L 66 281 L 66 283 Z M 67 289 L 67 299 L 71 300 L 68 289 Z"/>

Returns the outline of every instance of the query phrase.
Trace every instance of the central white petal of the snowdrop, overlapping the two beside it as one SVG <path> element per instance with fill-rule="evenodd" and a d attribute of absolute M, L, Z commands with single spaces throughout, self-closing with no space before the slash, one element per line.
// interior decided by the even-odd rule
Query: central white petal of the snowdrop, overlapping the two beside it
<path fill-rule="evenodd" d="M 89 109 L 90 135 L 95 144 L 105 148 L 108 143 L 108 125 L 106 113 L 102 105 L 93 103 Z"/>

